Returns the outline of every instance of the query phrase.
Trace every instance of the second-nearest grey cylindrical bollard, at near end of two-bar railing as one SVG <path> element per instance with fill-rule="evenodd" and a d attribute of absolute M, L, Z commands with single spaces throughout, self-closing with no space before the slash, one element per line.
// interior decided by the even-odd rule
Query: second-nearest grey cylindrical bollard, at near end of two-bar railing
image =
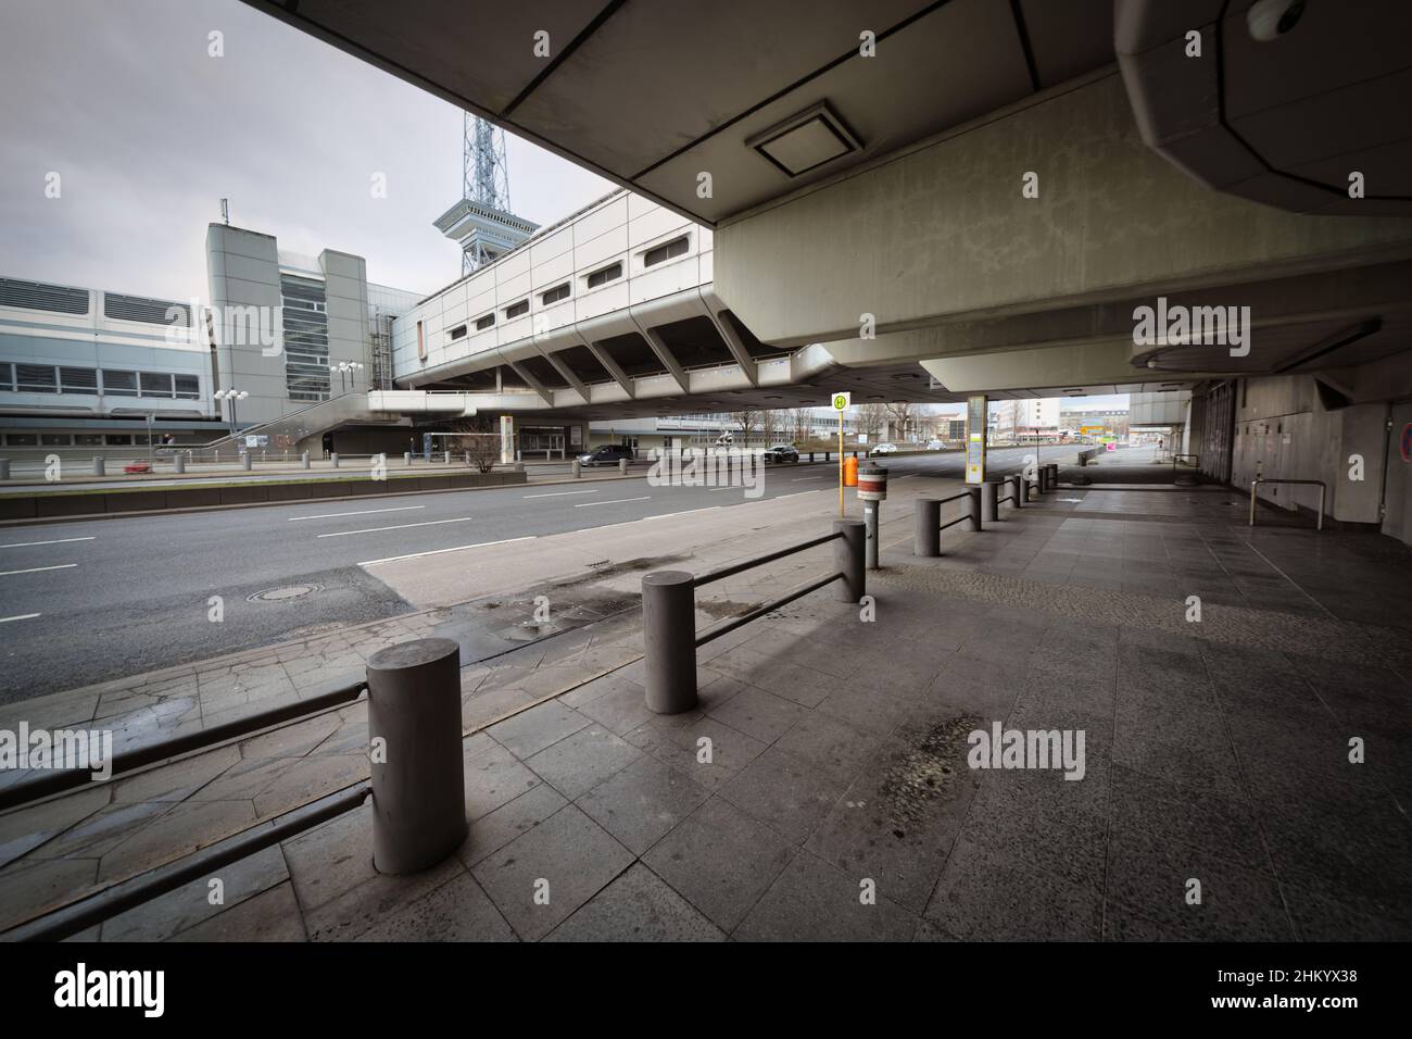
<path fill-rule="evenodd" d="M 642 673 L 650 711 L 696 707 L 696 578 L 683 570 L 642 578 Z"/>

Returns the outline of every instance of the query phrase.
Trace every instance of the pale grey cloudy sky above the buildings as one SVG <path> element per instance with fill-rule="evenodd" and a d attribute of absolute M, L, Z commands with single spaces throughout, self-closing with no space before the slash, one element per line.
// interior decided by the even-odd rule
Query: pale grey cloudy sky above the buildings
<path fill-rule="evenodd" d="M 460 196 L 452 105 L 237 0 L 0 6 L 0 274 L 205 298 L 206 223 L 229 198 L 232 223 L 357 253 L 370 281 L 459 277 L 432 226 Z M 514 137 L 507 153 L 513 208 L 537 223 L 611 189 Z"/>

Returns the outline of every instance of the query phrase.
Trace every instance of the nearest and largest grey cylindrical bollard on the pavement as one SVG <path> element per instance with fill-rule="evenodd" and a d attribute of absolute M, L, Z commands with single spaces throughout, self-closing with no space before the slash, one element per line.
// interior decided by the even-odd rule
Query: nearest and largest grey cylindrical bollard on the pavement
<path fill-rule="evenodd" d="M 459 643 L 414 639 L 371 656 L 367 734 L 380 874 L 421 872 L 465 843 L 460 728 Z"/>

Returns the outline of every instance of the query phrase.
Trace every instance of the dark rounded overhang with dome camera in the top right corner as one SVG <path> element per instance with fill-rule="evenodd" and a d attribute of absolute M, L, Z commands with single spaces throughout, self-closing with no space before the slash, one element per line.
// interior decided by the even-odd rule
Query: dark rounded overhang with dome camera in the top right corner
<path fill-rule="evenodd" d="M 1412 4 L 1267 3 L 1284 31 L 1257 40 L 1252 0 L 1117 0 L 1144 141 L 1213 188 L 1281 209 L 1412 215 Z"/>

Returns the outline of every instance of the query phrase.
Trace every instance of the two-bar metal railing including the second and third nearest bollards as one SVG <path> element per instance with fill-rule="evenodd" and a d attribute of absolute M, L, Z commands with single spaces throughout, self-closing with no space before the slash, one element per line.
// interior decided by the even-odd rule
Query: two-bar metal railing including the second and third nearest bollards
<path fill-rule="evenodd" d="M 738 616 L 696 632 L 696 589 L 754 567 L 834 541 L 833 573 L 806 581 L 784 595 Z M 657 714 L 681 714 L 696 707 L 696 649 L 809 592 L 840 581 L 837 599 L 858 602 L 866 594 L 863 520 L 833 520 L 833 532 L 801 544 L 710 570 L 700 577 L 682 570 L 658 570 L 642 577 L 642 666 L 647 707 Z"/>

